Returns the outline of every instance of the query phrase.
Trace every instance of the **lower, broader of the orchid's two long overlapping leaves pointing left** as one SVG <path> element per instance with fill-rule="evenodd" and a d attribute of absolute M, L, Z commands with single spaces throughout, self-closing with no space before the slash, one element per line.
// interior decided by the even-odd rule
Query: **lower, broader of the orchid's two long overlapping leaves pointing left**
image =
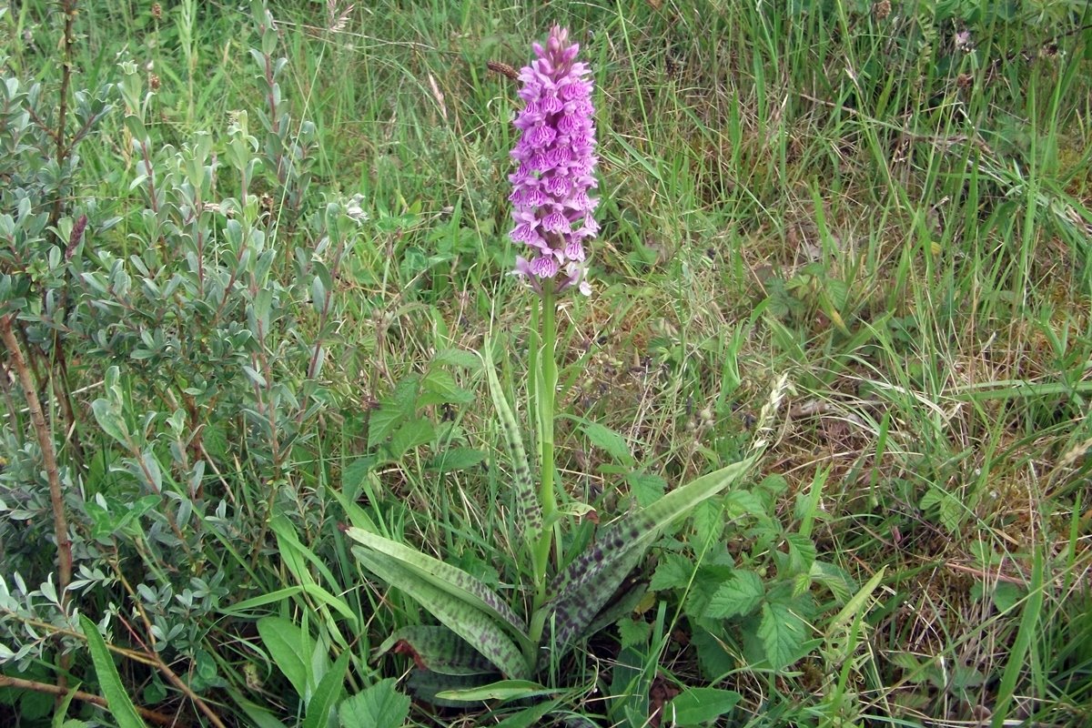
<path fill-rule="evenodd" d="M 482 653 L 505 677 L 513 680 L 529 677 L 530 668 L 520 648 L 490 613 L 441 589 L 384 553 L 361 548 L 354 548 L 353 553 L 368 571 L 413 597 L 441 624 Z"/>

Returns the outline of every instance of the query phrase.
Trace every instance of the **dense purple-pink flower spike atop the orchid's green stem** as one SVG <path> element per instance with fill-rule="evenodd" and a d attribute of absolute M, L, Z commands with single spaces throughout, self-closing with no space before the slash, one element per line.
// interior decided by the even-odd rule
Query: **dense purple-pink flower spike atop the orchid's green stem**
<path fill-rule="evenodd" d="M 509 235 L 531 258 L 517 258 L 513 273 L 538 291 L 544 278 L 556 278 L 556 291 L 575 287 L 587 296 L 584 240 L 600 229 L 592 217 L 598 200 L 587 194 L 598 187 L 592 82 L 567 29 L 555 25 L 546 47 L 536 43 L 534 50 L 537 58 L 520 70 L 526 105 L 514 121 L 518 169 L 508 176 L 515 222 Z"/>

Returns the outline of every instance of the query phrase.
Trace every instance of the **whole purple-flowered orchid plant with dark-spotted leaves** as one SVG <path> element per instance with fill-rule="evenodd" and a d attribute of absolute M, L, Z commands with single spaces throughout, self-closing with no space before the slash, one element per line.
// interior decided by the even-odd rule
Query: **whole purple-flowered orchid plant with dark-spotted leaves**
<path fill-rule="evenodd" d="M 568 31 L 554 27 L 545 46 L 534 44 L 535 59 L 519 74 L 524 105 L 514 121 L 520 140 L 511 152 L 517 169 L 509 177 L 514 219 L 510 236 L 526 246 L 513 273 L 537 294 L 529 387 L 537 434 L 534 469 L 488 342 L 483 353 L 511 461 L 520 548 L 530 564 L 524 580 L 530 583 L 522 584 L 525 602 L 513 608 L 470 573 L 381 536 L 347 509 L 354 523 L 346 533 L 359 544 L 354 552 L 363 565 L 440 622 L 403 628 L 379 653 L 411 654 L 418 667 L 450 676 L 448 684 L 473 687 L 441 692 L 447 700 L 534 694 L 542 687 L 529 680 L 542 667 L 543 655 L 549 652 L 556 658 L 631 610 L 642 595 L 641 586 L 613 597 L 656 536 L 740 479 L 763 449 L 759 441 L 745 460 L 621 515 L 601 527 L 582 552 L 560 552 L 558 536 L 571 516 L 559 510 L 555 485 L 556 312 L 561 296 L 573 290 L 590 295 L 585 244 L 598 230 L 593 217 L 598 201 L 590 195 L 597 187 L 593 85 L 578 52 Z M 479 679 L 467 681 L 467 676 Z M 484 683 L 491 684 L 484 688 Z"/>

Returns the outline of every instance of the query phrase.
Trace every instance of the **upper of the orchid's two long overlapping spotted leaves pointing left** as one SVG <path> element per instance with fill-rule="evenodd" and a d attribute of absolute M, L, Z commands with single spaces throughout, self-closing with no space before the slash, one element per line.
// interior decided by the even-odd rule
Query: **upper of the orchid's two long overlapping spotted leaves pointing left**
<path fill-rule="evenodd" d="M 372 551 L 390 557 L 403 568 L 414 572 L 443 592 L 477 609 L 485 611 L 526 641 L 526 624 L 512 611 L 496 592 L 462 569 L 443 563 L 404 544 L 368 533 L 361 528 L 346 528 L 345 534 Z M 401 586 L 395 584 L 395 586 Z"/>

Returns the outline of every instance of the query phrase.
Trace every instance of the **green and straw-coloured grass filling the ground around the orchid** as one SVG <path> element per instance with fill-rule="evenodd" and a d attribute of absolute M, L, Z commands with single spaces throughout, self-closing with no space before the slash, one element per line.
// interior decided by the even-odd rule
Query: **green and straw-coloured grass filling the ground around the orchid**
<path fill-rule="evenodd" d="M 717 645 L 703 642 L 709 631 L 696 636 L 693 600 L 708 599 L 731 566 L 765 563 L 772 578 L 787 553 L 787 541 L 763 544 L 729 503 L 702 516 L 715 532 L 696 518 L 661 544 L 660 565 L 644 576 L 668 583 L 665 563 L 685 564 L 686 576 L 654 588 L 616 632 L 558 667 L 568 691 L 551 696 L 560 707 L 543 725 L 584 725 L 577 714 L 672 725 L 657 709 L 707 687 L 741 695 L 716 725 L 1092 719 L 1087 9 L 924 0 L 556 1 L 520 12 L 492 0 L 280 5 L 288 136 L 301 119 L 316 129 L 304 204 L 359 194 L 369 219 L 334 282 L 336 326 L 323 334 L 329 355 L 317 378 L 325 409 L 301 415 L 308 429 L 283 475 L 293 494 L 271 496 L 280 486 L 266 463 L 233 443 L 205 478 L 218 499 L 262 521 L 257 534 L 191 554 L 240 585 L 202 618 L 204 636 L 176 666 L 216 675 L 195 690 L 226 721 L 304 719 L 256 636 L 256 620 L 270 613 L 353 655 L 349 694 L 405 670 L 403 658 L 370 651 L 426 618 L 355 563 L 336 528 L 353 508 L 384 535 L 511 588 L 500 580 L 515 558 L 500 432 L 484 377 L 451 351 L 507 332 L 502 375 L 525 394 L 511 380 L 525 371 L 534 301 L 508 275 L 515 250 L 506 200 L 517 86 L 486 63 L 521 65 L 553 23 L 572 29 L 592 64 L 602 156 L 596 290 L 559 312 L 569 332 L 558 346 L 560 498 L 608 518 L 664 482 L 729 462 L 787 374 L 794 390 L 759 477 L 780 476 L 783 487 L 752 490 L 772 493 L 769 517 L 810 539 L 860 597 L 856 613 L 835 617 L 845 599 L 815 588 L 808 630 L 818 646 L 783 670 L 751 659 L 746 623 Z M 86 3 L 78 22 L 75 83 L 117 82 L 118 58 L 136 61 L 156 88 L 146 123 L 162 145 L 181 146 L 200 130 L 223 135 L 230 115 L 264 103 L 253 40 L 240 32 L 251 21 L 237 3 L 183 1 L 158 12 Z M 56 85 L 58 68 L 44 61 L 58 23 L 45 2 L 9 9 L 0 56 L 11 73 Z M 107 117 L 80 148 L 82 196 L 66 202 L 122 218 L 121 234 L 95 243 L 117 255 L 139 252 L 143 203 L 130 186 L 139 164 L 130 139 L 120 112 Z M 280 234 L 275 244 L 302 251 L 301 260 L 320 242 L 304 226 Z M 293 260 L 286 252 L 276 275 L 289 281 Z M 320 331 L 310 319 L 284 335 L 306 342 Z M 82 404 L 100 396 L 108 365 L 91 355 L 75 363 L 72 389 L 90 392 Z M 428 420 L 432 435 L 378 457 L 390 443 L 369 442 L 376 413 L 392 411 L 400 382 L 438 369 L 474 395 L 411 405 L 406 421 Z M 22 462 L 25 405 L 5 392 L 2 454 Z M 135 421 L 146 403 L 127 396 Z M 591 420 L 617 440 L 590 434 L 581 425 Z M 60 420 L 51 422 L 64 442 Z M 94 422 L 81 431 L 94 433 L 92 449 L 109 451 Z M 438 457 L 456 447 L 485 455 L 446 469 Z M 639 476 L 627 476 L 621 451 Z M 117 463 L 96 463 L 100 472 L 73 470 L 70 487 L 97 475 L 112 498 L 111 488 L 124 487 L 111 480 Z M 27 488 L 16 470 L 29 472 L 12 468 L 0 482 L 0 538 L 9 542 L 13 504 Z M 287 526 L 259 517 L 268 500 Z M 247 542 L 258 534 L 260 542 Z M 593 524 L 567 537 L 591 539 Z M 40 559 L 34 565 L 31 588 L 50 573 Z M 14 570 L 3 570 L 8 584 Z M 154 586 L 155 574 L 133 576 L 145 577 Z M 112 601 L 131 611 L 139 599 L 119 583 L 83 595 L 81 609 Z M 308 583 L 344 600 L 359 631 Z M 283 589 L 299 590 L 263 600 Z M 13 613 L 0 619 L 12 623 Z M 112 639 L 139 648 L 119 629 Z M 322 673 L 331 659 L 314 654 Z M 0 663 L 3 676 L 43 684 L 55 682 L 49 668 Z M 142 670 L 121 672 L 138 703 L 206 719 L 185 707 L 177 687 Z M 0 688 L 0 715 L 22 711 L 35 725 L 19 703 L 29 693 L 12 690 Z M 418 703 L 408 720 L 494 725 L 512 713 L 495 702 L 474 711 L 454 717 Z"/>

